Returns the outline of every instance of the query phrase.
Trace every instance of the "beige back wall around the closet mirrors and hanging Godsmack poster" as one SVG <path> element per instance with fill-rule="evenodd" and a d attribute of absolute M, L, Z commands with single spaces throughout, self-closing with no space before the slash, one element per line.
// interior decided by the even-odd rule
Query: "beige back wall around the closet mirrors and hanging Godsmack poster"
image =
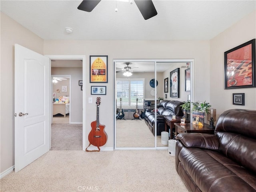
<path fill-rule="evenodd" d="M 195 100 L 210 99 L 209 92 L 209 41 L 65 41 L 45 40 L 44 54 L 46 55 L 86 55 L 85 73 L 86 82 L 84 96 L 86 102 L 86 138 L 91 130 L 90 123 L 96 119 L 96 97 L 90 95 L 90 86 L 106 86 L 107 94 L 102 95 L 100 104 L 100 124 L 105 125 L 108 141 L 103 147 L 113 147 L 114 111 L 113 106 L 113 59 L 194 59 L 195 70 Z M 90 55 L 108 55 L 108 83 L 89 83 L 89 59 Z M 158 82 L 163 84 L 163 82 Z M 92 97 L 93 102 L 88 103 Z M 88 140 L 86 140 L 88 146 Z M 102 148 L 103 148 L 102 147 Z"/>

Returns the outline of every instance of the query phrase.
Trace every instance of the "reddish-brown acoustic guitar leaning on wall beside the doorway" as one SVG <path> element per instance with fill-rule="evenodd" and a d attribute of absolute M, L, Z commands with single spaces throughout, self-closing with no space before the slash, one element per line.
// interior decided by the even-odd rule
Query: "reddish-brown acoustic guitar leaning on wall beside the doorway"
<path fill-rule="evenodd" d="M 98 147 L 98 150 L 87 150 L 88 152 L 91 151 L 100 151 L 100 146 L 103 146 L 104 144 L 106 144 L 107 142 L 107 134 L 104 131 L 105 126 L 101 125 L 99 122 L 99 108 L 100 108 L 100 97 L 97 97 L 97 101 L 96 101 L 96 105 L 97 105 L 97 112 L 96 112 L 96 121 L 93 121 L 91 123 L 91 127 L 92 130 L 88 135 L 88 140 L 90 142 L 89 146 L 92 144 L 96 147 Z"/>

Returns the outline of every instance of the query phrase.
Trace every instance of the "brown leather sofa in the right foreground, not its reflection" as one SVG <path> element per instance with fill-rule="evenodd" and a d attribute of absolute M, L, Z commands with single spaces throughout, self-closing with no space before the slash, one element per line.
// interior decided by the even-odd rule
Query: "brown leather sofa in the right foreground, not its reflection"
<path fill-rule="evenodd" d="M 256 192 L 256 110 L 220 115 L 215 134 L 177 135 L 176 171 L 192 192 Z"/>

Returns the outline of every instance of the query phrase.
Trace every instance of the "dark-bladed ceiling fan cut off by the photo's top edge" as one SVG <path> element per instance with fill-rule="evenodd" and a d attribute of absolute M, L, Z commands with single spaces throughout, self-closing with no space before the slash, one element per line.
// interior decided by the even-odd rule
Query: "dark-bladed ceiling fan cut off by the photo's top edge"
<path fill-rule="evenodd" d="M 101 0 L 83 0 L 78 6 L 79 10 L 91 12 Z M 152 0 L 134 0 L 140 13 L 145 20 L 152 18 L 157 15 L 156 8 Z"/>

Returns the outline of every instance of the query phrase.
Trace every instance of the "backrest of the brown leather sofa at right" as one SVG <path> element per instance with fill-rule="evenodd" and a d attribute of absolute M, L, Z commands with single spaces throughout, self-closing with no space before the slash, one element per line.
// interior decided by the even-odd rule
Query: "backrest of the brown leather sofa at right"
<path fill-rule="evenodd" d="M 219 151 L 256 173 L 256 110 L 232 109 L 223 112 L 215 132 Z"/>

